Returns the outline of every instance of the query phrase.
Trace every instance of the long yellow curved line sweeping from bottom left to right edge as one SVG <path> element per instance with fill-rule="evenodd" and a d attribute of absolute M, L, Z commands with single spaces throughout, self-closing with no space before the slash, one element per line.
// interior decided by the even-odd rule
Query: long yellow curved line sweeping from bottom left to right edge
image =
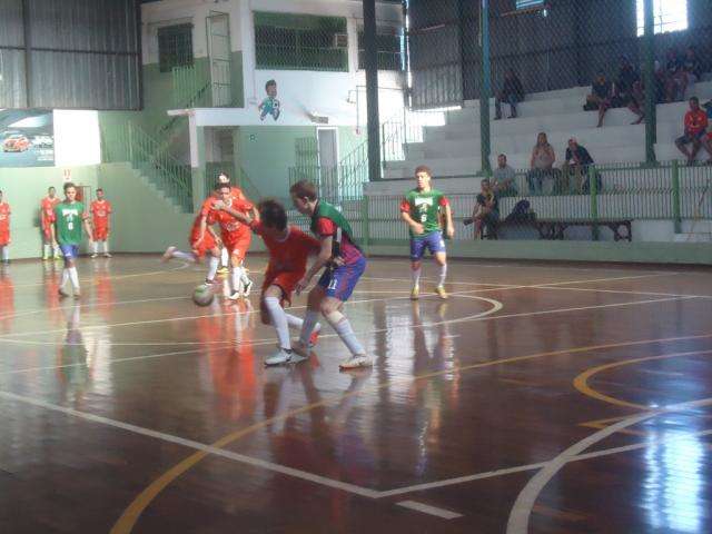
<path fill-rule="evenodd" d="M 248 434 L 251 434 L 251 433 L 257 432 L 257 431 L 259 431 L 259 429 L 261 429 L 261 428 L 264 428 L 266 426 L 269 426 L 269 425 L 274 424 L 275 422 L 288 419 L 290 417 L 294 417 L 296 415 L 303 414 L 305 412 L 309 412 L 309 411 L 315 409 L 315 408 L 325 407 L 325 406 L 333 405 L 333 404 L 338 404 L 338 403 L 343 402 L 344 398 L 348 398 L 348 397 L 352 397 L 352 396 L 360 395 L 362 393 L 365 393 L 367 390 L 370 390 L 373 393 L 374 390 L 378 390 L 378 389 L 382 389 L 384 387 L 390 387 L 390 386 L 393 386 L 395 384 L 398 384 L 398 383 L 422 380 L 422 379 L 427 379 L 427 378 L 442 376 L 442 375 L 445 375 L 445 374 L 451 374 L 451 373 L 454 373 L 454 372 L 465 372 L 465 370 L 473 370 L 473 369 L 479 369 L 479 368 L 485 368 L 485 367 L 492 367 L 492 366 L 495 366 L 495 365 L 513 364 L 513 363 L 520 363 L 520 362 L 528 362 L 528 360 L 532 360 L 532 359 L 543 358 L 543 357 L 547 357 L 547 356 L 562 356 L 562 355 L 570 355 L 570 354 L 590 353 L 590 352 L 593 352 L 593 350 L 604 350 L 604 349 L 610 349 L 610 348 L 631 347 L 631 346 L 636 346 L 636 345 L 649 345 L 649 344 L 652 344 L 652 343 L 669 343 L 669 342 L 678 342 L 678 340 L 686 340 L 686 339 L 709 339 L 711 337 L 712 337 L 712 334 L 704 334 L 704 335 L 699 335 L 699 336 L 682 336 L 682 337 L 669 337 L 669 338 L 660 338 L 660 339 L 643 339 L 643 340 L 637 340 L 637 342 L 622 342 L 622 343 L 610 343 L 610 344 L 602 344 L 602 345 L 590 345 L 590 346 L 585 346 L 585 347 L 575 347 L 575 348 L 563 349 L 563 350 L 552 350 L 552 352 L 546 352 L 546 353 L 536 353 L 536 354 L 528 354 L 528 355 L 524 355 L 524 356 L 514 356 L 514 357 L 510 357 L 510 358 L 495 359 L 495 360 L 491 360 L 491 362 L 483 362 L 483 363 L 478 363 L 478 364 L 471 364 L 471 365 L 466 365 L 466 366 L 461 366 L 461 367 L 455 367 L 455 368 L 449 368 L 449 369 L 443 369 L 443 370 L 426 373 L 426 374 L 414 376 L 414 377 L 404 377 L 404 378 L 400 378 L 400 379 L 388 380 L 388 382 L 384 382 L 384 383 L 380 383 L 380 384 L 376 384 L 375 386 L 373 386 L 370 388 L 364 388 L 364 389 L 360 389 L 360 390 L 345 393 L 345 394 L 340 395 L 339 398 L 320 400 L 318 403 L 313 403 L 313 404 L 309 404 L 307 406 L 303 406 L 300 408 L 296 408 L 294 411 L 287 412 L 285 414 L 280 414 L 280 415 L 277 415 L 275 417 L 270 417 L 270 418 L 264 419 L 264 421 L 261 421 L 259 423 L 255 423 L 254 425 L 250 425 L 250 426 L 248 426 L 246 428 L 241 428 L 239 431 L 236 431 L 236 432 L 233 432 L 230 434 L 227 434 L 226 436 L 221 437 L 220 439 L 218 439 L 217 442 L 215 442 L 210 446 L 211 447 L 216 447 L 216 448 L 222 448 L 226 445 L 229 445 L 229 444 L 236 442 L 237 439 L 239 439 L 239 438 L 241 438 L 241 437 L 244 437 L 244 436 L 246 436 Z M 139 495 L 137 495 L 137 497 L 131 502 L 131 504 L 129 504 L 129 506 L 125 510 L 125 512 L 121 514 L 121 516 L 118 518 L 118 521 L 116 522 L 116 524 L 111 528 L 110 534 L 128 534 L 128 533 L 130 533 L 134 530 L 134 526 L 136 525 L 136 522 L 138 521 L 140 515 L 144 513 L 144 511 L 150 505 L 150 503 L 169 484 L 171 484 L 175 479 L 177 479 L 180 475 L 186 473 L 192 466 L 198 464 L 207 455 L 208 455 L 207 452 L 202 452 L 202 451 L 196 452 L 196 453 L 191 454 L 190 456 L 186 457 L 185 459 L 182 459 L 180 463 L 178 463 L 175 466 L 172 466 L 170 469 L 165 472 L 161 476 L 156 478 L 154 482 L 151 482 L 151 484 L 148 487 L 146 487 Z"/>

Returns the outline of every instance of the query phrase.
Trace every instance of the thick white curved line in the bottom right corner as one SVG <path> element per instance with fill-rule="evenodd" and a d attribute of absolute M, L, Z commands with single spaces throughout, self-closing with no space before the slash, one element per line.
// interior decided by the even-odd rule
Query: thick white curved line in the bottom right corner
<path fill-rule="evenodd" d="M 507 521 L 507 534 L 527 534 L 530 526 L 530 517 L 532 515 L 532 510 L 534 508 L 534 503 L 538 498 L 538 495 L 542 493 L 546 484 L 575 456 L 583 453 L 586 448 L 602 439 L 609 437 L 612 434 L 615 434 L 623 428 L 629 426 L 633 426 L 637 423 L 641 423 L 645 419 L 653 418 L 661 414 L 666 414 L 670 412 L 680 412 L 688 408 L 695 408 L 699 406 L 708 406 L 712 404 L 712 398 L 702 398 L 700 400 L 692 400 L 689 403 L 680 403 L 671 406 L 666 406 L 662 409 L 655 409 L 652 412 L 646 412 L 641 415 L 634 415 L 632 417 L 627 417 L 619 423 L 615 423 L 611 426 L 606 426 L 605 428 L 591 434 L 589 437 L 581 439 L 575 443 L 571 447 L 563 451 L 558 456 L 554 457 L 550 462 L 546 463 L 544 467 L 542 467 L 538 473 L 536 473 L 530 482 L 524 486 L 524 488 L 520 492 L 520 495 L 516 497 L 514 506 L 512 507 L 512 512 L 510 513 L 510 520 Z"/>

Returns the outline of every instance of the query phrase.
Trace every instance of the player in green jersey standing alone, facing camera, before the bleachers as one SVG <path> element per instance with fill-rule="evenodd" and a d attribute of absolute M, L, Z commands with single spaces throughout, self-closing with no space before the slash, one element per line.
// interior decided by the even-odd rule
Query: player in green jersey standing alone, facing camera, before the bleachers
<path fill-rule="evenodd" d="M 408 225 L 411 231 L 411 268 L 413 290 L 411 298 L 417 300 L 421 295 L 421 265 L 427 248 L 441 271 L 438 276 L 437 295 L 446 299 L 445 277 L 447 276 L 447 255 L 443 239 L 443 225 L 448 238 L 455 235 L 453 211 L 445 195 L 431 187 L 431 169 L 422 165 L 415 169 L 417 187 L 409 190 L 400 202 L 400 218 Z"/>

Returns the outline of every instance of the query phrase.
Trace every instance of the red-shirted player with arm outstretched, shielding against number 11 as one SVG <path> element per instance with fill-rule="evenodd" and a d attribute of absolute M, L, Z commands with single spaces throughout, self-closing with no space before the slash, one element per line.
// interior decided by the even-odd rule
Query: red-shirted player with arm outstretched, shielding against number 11
<path fill-rule="evenodd" d="M 263 200 L 259 202 L 258 211 L 258 220 L 250 220 L 239 212 L 231 215 L 249 224 L 255 234 L 261 236 L 269 251 L 259 305 L 263 323 L 273 325 L 277 330 L 279 348 L 265 360 L 265 365 L 301 362 L 305 358 L 291 350 L 289 328 L 301 332 L 304 320 L 286 313 L 284 306 L 291 304 L 291 294 L 306 274 L 307 258 L 316 256 L 322 246 L 312 236 L 287 224 L 287 212 L 278 201 Z M 309 338 L 310 346 L 316 344 L 320 329 L 322 326 L 317 323 Z"/>

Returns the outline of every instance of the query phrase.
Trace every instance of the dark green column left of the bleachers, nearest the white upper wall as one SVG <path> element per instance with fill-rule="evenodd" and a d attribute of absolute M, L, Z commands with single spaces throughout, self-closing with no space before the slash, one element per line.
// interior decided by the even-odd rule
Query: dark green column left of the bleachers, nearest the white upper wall
<path fill-rule="evenodd" d="M 380 180 L 380 119 L 378 118 L 378 47 L 376 0 L 363 0 L 364 62 L 366 67 L 366 113 L 368 119 L 368 180 Z"/>

